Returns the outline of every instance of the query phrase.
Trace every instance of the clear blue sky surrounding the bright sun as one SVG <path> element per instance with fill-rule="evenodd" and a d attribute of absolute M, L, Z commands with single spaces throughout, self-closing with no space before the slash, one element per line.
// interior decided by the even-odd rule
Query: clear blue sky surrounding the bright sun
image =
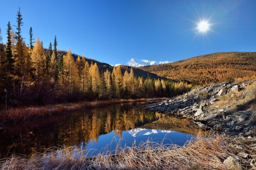
<path fill-rule="evenodd" d="M 19 7 L 27 43 L 32 27 L 44 47 L 56 35 L 59 50 L 70 47 L 73 53 L 109 64 L 256 49 L 255 0 L 2 1 L 4 43 L 7 22 L 16 25 Z M 208 31 L 199 32 L 201 20 L 208 21 Z"/>

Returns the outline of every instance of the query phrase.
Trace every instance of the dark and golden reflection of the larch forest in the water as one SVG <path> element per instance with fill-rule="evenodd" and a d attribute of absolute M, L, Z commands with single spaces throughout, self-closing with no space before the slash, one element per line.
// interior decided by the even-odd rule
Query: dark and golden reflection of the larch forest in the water
<path fill-rule="evenodd" d="M 29 155 L 51 147 L 86 145 L 97 142 L 102 134 L 134 129 L 165 115 L 132 108 L 134 103 L 119 104 L 67 113 L 30 123 L 6 125 L 0 129 L 0 157 Z"/>

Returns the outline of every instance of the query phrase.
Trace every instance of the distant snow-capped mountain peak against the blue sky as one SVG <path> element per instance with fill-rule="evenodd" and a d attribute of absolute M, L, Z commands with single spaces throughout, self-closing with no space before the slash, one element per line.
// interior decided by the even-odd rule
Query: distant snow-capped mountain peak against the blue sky
<path fill-rule="evenodd" d="M 129 60 L 125 65 L 132 66 L 132 67 L 139 67 L 144 65 L 158 65 L 158 64 L 167 64 L 171 63 L 172 61 L 150 61 L 150 60 L 140 60 L 132 58 Z"/>

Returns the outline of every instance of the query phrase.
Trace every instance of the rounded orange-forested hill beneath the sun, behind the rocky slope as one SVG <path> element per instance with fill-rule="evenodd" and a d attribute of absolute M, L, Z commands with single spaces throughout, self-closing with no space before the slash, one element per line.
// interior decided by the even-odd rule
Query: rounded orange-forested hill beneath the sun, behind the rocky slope
<path fill-rule="evenodd" d="M 256 76 L 256 53 L 214 53 L 139 68 L 169 79 L 203 85 Z"/>

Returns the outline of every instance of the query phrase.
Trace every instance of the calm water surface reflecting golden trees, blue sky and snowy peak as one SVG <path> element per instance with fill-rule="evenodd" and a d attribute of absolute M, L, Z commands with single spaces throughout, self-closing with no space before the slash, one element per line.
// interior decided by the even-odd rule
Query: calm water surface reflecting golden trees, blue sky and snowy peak
<path fill-rule="evenodd" d="M 118 142 L 123 147 L 146 140 L 183 145 L 195 134 L 193 124 L 188 120 L 132 107 L 144 104 L 118 104 L 5 125 L 0 127 L 0 157 L 29 155 L 63 146 L 87 151 L 94 149 L 90 154 L 96 155 L 103 152 L 107 144 L 108 150 L 114 150 Z"/>

